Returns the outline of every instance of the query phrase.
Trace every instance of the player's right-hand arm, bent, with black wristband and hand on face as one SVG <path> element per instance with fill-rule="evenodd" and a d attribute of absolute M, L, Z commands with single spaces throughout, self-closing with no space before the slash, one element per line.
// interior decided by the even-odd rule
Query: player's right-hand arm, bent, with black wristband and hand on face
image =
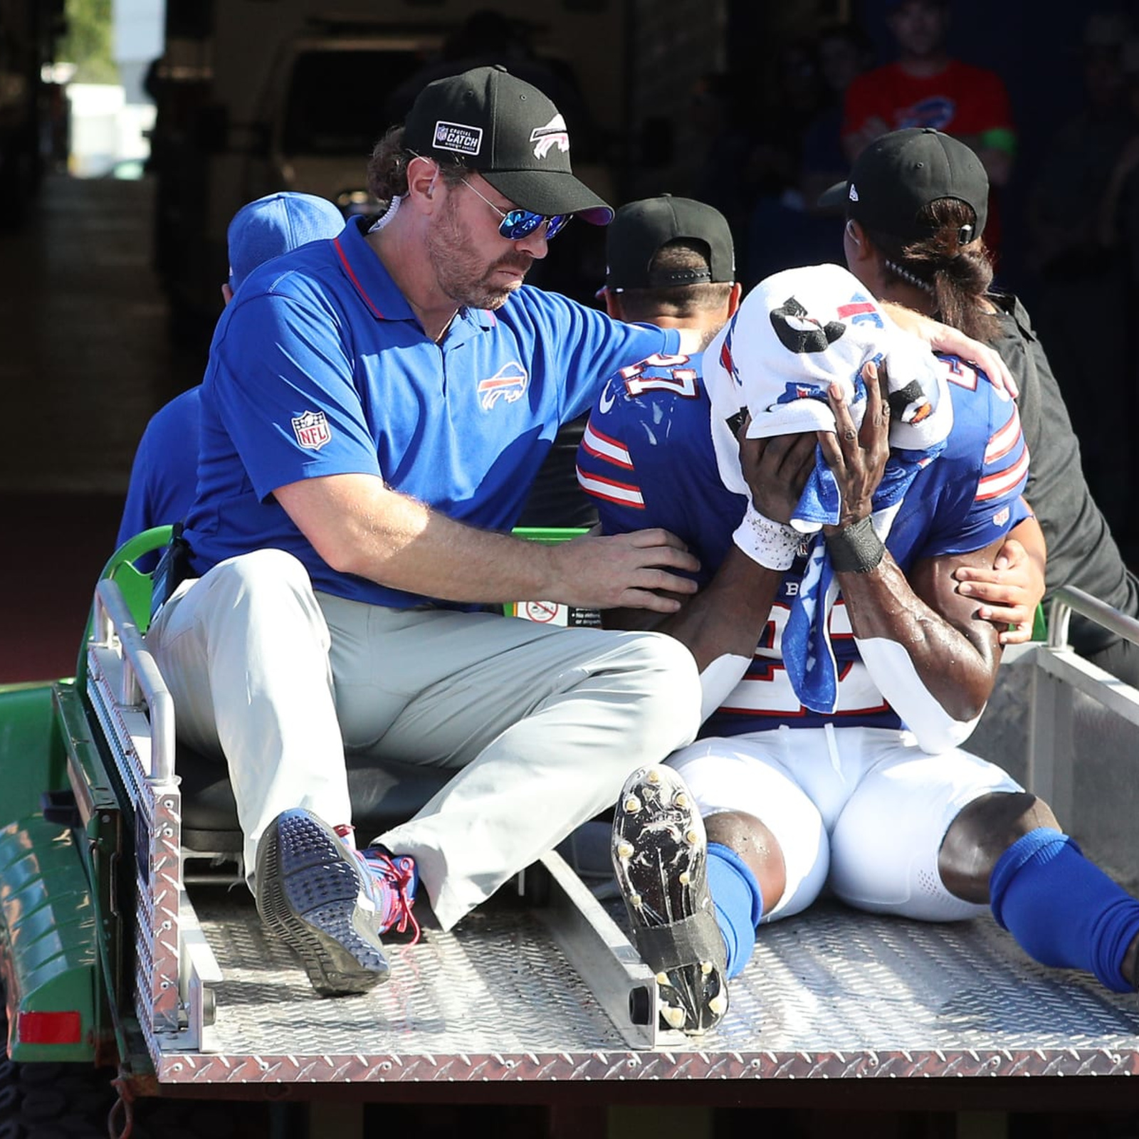
<path fill-rule="evenodd" d="M 871 498 L 888 457 L 890 411 L 879 386 L 868 383 L 866 416 L 855 429 L 838 392 L 836 387 L 830 396 L 837 432 L 820 433 L 819 444 L 838 483 L 842 513 L 838 525 L 823 531 L 867 667 L 920 739 L 915 702 L 921 705 L 932 697 L 952 721 L 966 724 L 981 714 L 992 693 L 1000 663 L 997 629 L 978 615 L 973 598 L 956 591 L 952 574 L 961 565 L 992 565 L 1003 539 L 974 554 L 924 559 L 909 579 L 888 552 L 872 568 L 843 568 L 834 539 L 851 541 L 852 527 L 865 527 L 870 518 Z M 915 678 L 896 667 L 896 654 L 875 652 L 867 641 L 900 647 Z"/>

